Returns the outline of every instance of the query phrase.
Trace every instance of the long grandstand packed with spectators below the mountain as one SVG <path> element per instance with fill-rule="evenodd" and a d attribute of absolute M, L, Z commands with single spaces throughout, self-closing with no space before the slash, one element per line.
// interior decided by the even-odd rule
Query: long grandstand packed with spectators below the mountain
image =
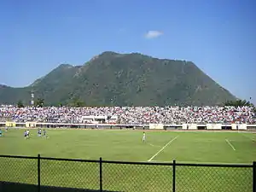
<path fill-rule="evenodd" d="M 41 123 L 90 123 L 90 117 L 102 123 L 143 124 L 256 124 L 251 107 L 102 107 L 102 108 L 17 108 L 0 107 L 0 120 Z M 112 120 L 112 121 L 110 121 Z M 98 121 L 99 122 L 99 121 Z"/>

